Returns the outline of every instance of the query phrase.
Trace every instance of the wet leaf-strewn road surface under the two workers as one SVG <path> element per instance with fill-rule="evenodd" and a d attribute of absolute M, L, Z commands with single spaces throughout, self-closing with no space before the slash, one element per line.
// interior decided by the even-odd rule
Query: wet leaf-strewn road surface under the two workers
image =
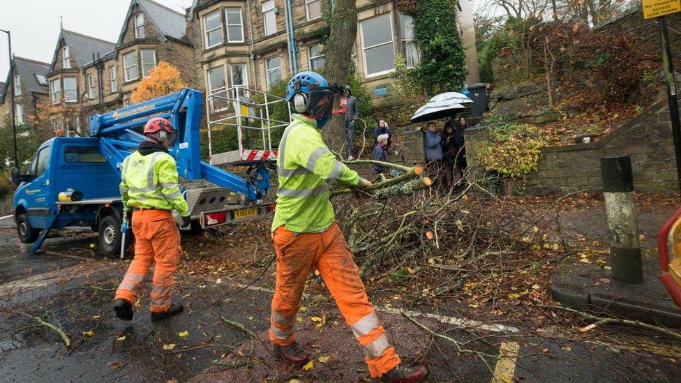
<path fill-rule="evenodd" d="M 152 323 L 145 293 L 133 321 L 121 322 L 111 303 L 127 262 L 98 255 L 95 239 L 50 238 L 36 256 L 15 232 L 0 230 L 1 382 L 366 381 L 363 354 L 321 285 L 310 283 L 297 322 L 299 341 L 315 359 L 307 370 L 294 368 L 274 357 L 267 340 L 271 286 L 248 283 L 252 276 L 244 285 L 226 277 L 234 270 L 208 266 L 177 276 L 174 296 L 186 304 L 184 314 Z M 399 303 L 377 310 L 403 362 L 431 370 L 428 382 L 671 382 L 681 370 L 678 344 L 636 331 L 608 341 L 560 326 L 480 323 L 451 309 L 407 312 L 426 331 Z M 67 349 L 20 312 L 59 324 L 73 344 Z"/>

